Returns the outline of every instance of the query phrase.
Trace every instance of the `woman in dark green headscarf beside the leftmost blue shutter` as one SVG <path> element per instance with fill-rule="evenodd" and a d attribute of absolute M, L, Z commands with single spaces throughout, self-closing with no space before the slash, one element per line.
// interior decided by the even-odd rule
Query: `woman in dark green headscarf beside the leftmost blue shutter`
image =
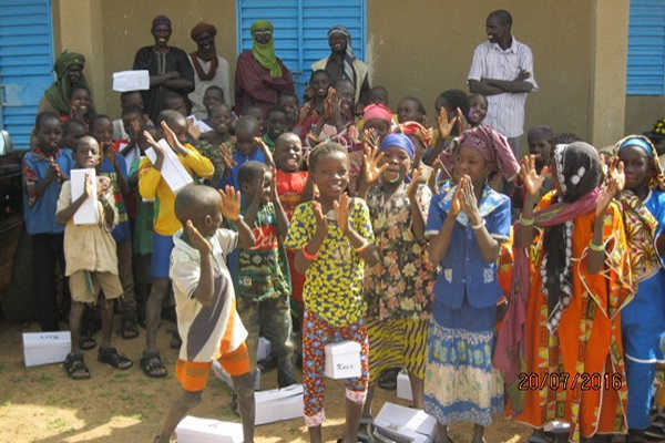
<path fill-rule="evenodd" d="M 78 52 L 64 50 L 53 64 L 53 71 L 58 78 L 44 92 L 39 102 L 38 112 L 50 111 L 61 117 L 71 114 L 70 100 L 74 87 L 88 87 L 83 68 L 85 58 Z"/>

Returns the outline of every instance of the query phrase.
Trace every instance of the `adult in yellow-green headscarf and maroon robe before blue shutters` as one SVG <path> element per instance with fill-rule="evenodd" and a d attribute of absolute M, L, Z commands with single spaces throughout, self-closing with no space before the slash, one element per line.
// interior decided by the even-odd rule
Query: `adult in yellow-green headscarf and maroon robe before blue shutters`
<path fill-rule="evenodd" d="M 236 113 L 248 106 L 259 106 L 264 116 L 277 104 L 283 92 L 294 92 L 294 79 L 286 65 L 275 55 L 273 23 L 257 20 L 252 23 L 253 45 L 238 56 L 235 75 Z"/>

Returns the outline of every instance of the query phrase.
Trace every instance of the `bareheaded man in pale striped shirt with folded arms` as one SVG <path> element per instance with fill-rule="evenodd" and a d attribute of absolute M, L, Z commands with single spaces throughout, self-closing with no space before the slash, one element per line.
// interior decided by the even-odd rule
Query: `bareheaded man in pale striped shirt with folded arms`
<path fill-rule="evenodd" d="M 469 91 L 488 97 L 483 124 L 505 135 L 516 158 L 524 133 L 526 94 L 538 91 L 531 48 L 511 33 L 512 16 L 504 9 L 490 12 L 485 22 L 488 41 L 473 51 Z"/>

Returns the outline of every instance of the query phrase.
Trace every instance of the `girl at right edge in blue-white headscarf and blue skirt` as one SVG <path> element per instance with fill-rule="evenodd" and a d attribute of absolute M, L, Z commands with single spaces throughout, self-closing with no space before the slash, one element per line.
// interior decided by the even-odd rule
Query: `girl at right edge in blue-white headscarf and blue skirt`
<path fill-rule="evenodd" d="M 656 363 L 665 363 L 661 343 L 665 339 L 665 270 L 662 255 L 665 237 L 665 176 L 649 140 L 630 135 L 615 146 L 625 165 L 626 186 L 616 198 L 624 217 L 631 250 L 635 298 L 621 316 L 628 384 L 628 429 L 631 442 L 645 442 L 654 435 L 649 409 Z"/>

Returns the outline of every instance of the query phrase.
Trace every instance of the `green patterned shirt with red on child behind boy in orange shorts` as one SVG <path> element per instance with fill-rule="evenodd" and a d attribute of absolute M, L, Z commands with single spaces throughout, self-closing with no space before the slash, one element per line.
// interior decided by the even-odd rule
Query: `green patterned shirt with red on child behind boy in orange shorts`
<path fill-rule="evenodd" d="M 243 298 L 259 301 L 290 293 L 288 264 L 285 254 L 280 254 L 276 218 L 273 203 L 262 205 L 250 226 L 256 243 L 238 253 L 237 288 Z"/>

